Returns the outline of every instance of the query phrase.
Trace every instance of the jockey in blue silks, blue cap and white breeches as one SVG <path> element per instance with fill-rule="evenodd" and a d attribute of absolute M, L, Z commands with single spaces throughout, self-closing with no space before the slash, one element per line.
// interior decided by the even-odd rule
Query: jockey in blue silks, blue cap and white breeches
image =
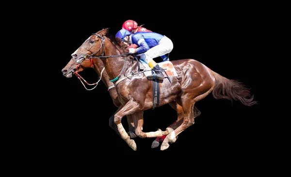
<path fill-rule="evenodd" d="M 126 29 L 120 29 L 115 38 L 122 39 L 127 45 L 136 44 L 137 48 L 129 48 L 131 54 L 144 52 L 141 54 L 141 59 L 154 71 L 154 74 L 148 75 L 147 79 L 153 79 L 154 77 L 159 80 L 164 79 L 163 69 L 153 59 L 156 57 L 164 59 L 165 54 L 173 50 L 173 43 L 168 37 L 156 32 L 136 32 L 132 34 Z"/>

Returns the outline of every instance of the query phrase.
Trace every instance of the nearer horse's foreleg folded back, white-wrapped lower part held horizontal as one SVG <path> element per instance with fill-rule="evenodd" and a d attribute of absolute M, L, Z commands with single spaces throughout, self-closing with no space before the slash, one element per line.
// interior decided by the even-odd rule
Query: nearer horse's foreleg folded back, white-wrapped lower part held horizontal
<path fill-rule="evenodd" d="M 158 137 L 162 135 L 167 135 L 170 133 L 170 128 L 167 128 L 166 131 L 162 131 L 161 129 L 158 129 L 156 132 L 143 132 L 143 125 L 144 125 L 144 111 L 139 111 L 131 114 L 134 127 L 135 127 L 135 133 L 140 138 L 152 138 L 152 137 Z"/>

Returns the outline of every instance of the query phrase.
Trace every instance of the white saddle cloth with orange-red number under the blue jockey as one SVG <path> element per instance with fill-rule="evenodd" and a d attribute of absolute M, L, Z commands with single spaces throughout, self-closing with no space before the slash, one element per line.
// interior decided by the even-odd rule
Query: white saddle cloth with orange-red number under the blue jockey
<path fill-rule="evenodd" d="M 152 70 L 148 66 L 148 64 L 145 61 L 143 61 L 142 59 L 140 59 L 140 63 L 141 63 L 140 68 L 144 69 L 144 74 L 146 76 L 151 75 Z M 166 60 L 166 61 L 162 61 L 162 62 L 157 63 L 157 64 L 159 64 L 162 69 L 165 69 L 164 71 L 167 72 L 169 77 L 170 76 L 178 76 L 176 69 L 174 68 L 174 65 L 171 61 Z M 164 76 L 167 77 L 167 75 L 165 73 L 164 73 Z"/>

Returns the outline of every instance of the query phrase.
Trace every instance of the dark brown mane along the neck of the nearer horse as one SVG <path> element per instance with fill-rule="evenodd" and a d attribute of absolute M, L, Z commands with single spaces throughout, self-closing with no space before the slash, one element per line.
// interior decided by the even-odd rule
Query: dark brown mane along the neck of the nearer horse
<path fill-rule="evenodd" d="M 128 46 L 124 44 L 120 38 L 115 38 L 113 34 L 110 34 L 109 28 L 102 29 L 98 31 L 97 33 L 100 35 L 106 36 L 117 47 L 117 49 L 121 52 L 121 54 L 129 53 Z"/>

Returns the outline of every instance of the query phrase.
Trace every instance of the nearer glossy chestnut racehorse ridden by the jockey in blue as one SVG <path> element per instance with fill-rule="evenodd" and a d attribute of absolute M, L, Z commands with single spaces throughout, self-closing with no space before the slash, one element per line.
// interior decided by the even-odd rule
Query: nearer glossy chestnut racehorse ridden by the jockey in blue
<path fill-rule="evenodd" d="M 90 58 L 102 60 L 123 105 L 114 114 L 114 123 L 122 139 L 133 150 L 136 150 L 135 141 L 130 139 L 121 123 L 124 116 L 132 116 L 135 133 L 141 138 L 167 135 L 160 148 L 165 150 L 169 148 L 169 143 L 176 141 L 178 134 L 194 124 L 194 104 L 210 93 L 215 99 L 227 99 L 231 103 L 240 101 L 246 106 L 257 104 L 254 94 L 239 80 L 228 79 L 195 59 L 173 60 L 178 76 L 172 77 L 171 81 L 165 79 L 159 83 L 161 91 L 157 106 L 178 103 L 182 106 L 183 122 L 175 130 L 167 128 L 166 131 L 159 129 L 156 132 L 145 133 L 142 130 L 143 113 L 154 105 L 154 82 L 139 72 L 139 61 L 134 60 L 128 52 L 121 39 L 112 39 L 107 28 L 93 33 L 71 56 L 77 63 Z"/>

